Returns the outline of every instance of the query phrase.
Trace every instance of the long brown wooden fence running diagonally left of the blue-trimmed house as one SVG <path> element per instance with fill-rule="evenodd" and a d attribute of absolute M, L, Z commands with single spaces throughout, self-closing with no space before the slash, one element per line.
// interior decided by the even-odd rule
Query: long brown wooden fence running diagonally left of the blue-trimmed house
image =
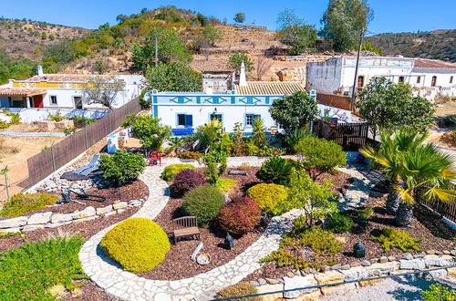
<path fill-rule="evenodd" d="M 138 99 L 132 99 L 119 109 L 110 112 L 105 117 L 89 124 L 83 130 L 78 130 L 72 136 L 59 141 L 49 149 L 37 153 L 27 159 L 27 186 L 35 185 L 49 174 L 72 161 L 82 152 L 104 139 L 110 132 L 119 128 L 125 116 L 137 114 L 141 110 Z"/>

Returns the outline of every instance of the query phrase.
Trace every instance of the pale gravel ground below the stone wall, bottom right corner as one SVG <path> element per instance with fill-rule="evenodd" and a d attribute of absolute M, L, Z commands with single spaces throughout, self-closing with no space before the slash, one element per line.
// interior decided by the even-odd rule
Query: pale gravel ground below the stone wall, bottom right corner
<path fill-rule="evenodd" d="M 456 289 L 456 279 L 444 279 L 445 284 L 448 284 L 452 289 Z M 422 300 L 420 291 L 429 289 L 429 286 L 436 283 L 436 281 L 428 281 L 416 277 L 399 276 L 394 278 L 385 279 L 375 285 L 368 285 L 358 287 L 352 290 L 345 296 L 324 296 L 320 301 L 358 301 L 358 300 L 372 300 L 372 301 L 387 301 L 387 300 Z"/>

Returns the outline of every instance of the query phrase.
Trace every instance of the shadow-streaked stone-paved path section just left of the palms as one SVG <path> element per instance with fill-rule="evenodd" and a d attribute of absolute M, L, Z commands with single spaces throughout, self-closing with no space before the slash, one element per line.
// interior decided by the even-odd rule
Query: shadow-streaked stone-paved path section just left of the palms
<path fill-rule="evenodd" d="M 378 171 L 372 171 L 366 165 L 350 164 L 346 167 L 339 167 L 337 170 L 346 172 L 355 178 L 339 202 L 339 210 L 345 211 L 362 206 L 364 202 L 368 201 L 372 188 L 383 180 L 383 176 Z"/>

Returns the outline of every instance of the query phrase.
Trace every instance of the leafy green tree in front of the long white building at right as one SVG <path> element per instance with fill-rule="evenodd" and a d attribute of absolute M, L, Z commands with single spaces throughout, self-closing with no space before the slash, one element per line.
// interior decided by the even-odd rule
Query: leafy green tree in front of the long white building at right
<path fill-rule="evenodd" d="M 432 104 L 414 97 L 407 84 L 395 84 L 387 78 L 372 78 L 359 93 L 357 107 L 376 136 L 377 127 L 396 130 L 427 130 L 434 123 Z"/>

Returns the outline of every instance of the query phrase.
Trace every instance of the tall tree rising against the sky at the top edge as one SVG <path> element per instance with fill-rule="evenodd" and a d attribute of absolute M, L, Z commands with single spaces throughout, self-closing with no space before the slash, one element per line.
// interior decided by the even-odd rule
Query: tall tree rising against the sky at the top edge
<path fill-rule="evenodd" d="M 372 18 L 367 0 L 330 0 L 320 21 L 323 25 L 320 34 L 332 41 L 336 51 L 353 50 Z"/>

